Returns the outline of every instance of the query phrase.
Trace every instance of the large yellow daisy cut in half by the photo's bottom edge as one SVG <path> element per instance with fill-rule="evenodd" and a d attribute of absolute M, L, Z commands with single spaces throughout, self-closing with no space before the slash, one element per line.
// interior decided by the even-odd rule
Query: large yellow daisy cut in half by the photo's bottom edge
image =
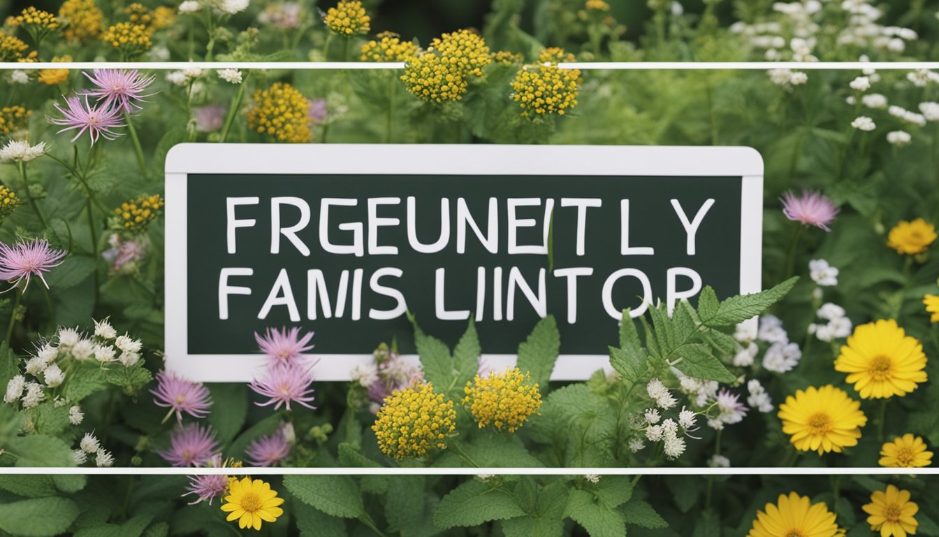
<path fill-rule="evenodd" d="M 835 513 L 824 502 L 813 504 L 794 492 L 779 495 L 777 503 L 767 503 L 757 512 L 747 537 L 835 537 L 841 534 Z"/>

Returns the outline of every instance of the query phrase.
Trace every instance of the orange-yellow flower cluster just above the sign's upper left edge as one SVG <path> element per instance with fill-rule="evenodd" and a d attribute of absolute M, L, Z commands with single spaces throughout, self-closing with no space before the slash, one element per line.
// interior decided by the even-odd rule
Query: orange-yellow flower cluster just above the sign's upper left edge
<path fill-rule="evenodd" d="M 285 82 L 254 92 L 254 108 L 248 113 L 248 126 L 282 142 L 310 141 L 310 101 Z"/>

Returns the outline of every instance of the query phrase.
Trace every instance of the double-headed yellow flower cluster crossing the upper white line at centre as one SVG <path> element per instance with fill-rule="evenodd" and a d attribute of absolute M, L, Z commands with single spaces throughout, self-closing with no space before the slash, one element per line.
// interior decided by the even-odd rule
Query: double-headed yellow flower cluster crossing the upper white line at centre
<path fill-rule="evenodd" d="M 401 80 L 423 101 L 459 101 L 469 87 L 469 76 L 482 76 L 483 68 L 491 62 L 485 40 L 469 30 L 459 30 L 434 38 L 426 52 L 408 59 Z"/>

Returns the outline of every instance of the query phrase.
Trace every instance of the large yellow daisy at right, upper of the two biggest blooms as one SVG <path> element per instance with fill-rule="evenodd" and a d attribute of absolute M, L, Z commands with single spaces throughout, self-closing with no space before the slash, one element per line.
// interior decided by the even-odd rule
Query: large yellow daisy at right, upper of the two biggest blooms
<path fill-rule="evenodd" d="M 926 382 L 925 369 L 923 346 L 892 319 L 854 328 L 835 360 L 835 371 L 848 373 L 864 399 L 906 395 Z"/>

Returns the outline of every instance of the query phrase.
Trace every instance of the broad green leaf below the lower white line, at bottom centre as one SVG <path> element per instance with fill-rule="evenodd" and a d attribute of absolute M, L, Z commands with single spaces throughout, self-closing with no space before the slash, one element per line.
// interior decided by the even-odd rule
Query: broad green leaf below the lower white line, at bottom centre
<path fill-rule="evenodd" d="M 479 526 L 525 514 L 509 493 L 489 488 L 484 482 L 464 482 L 440 500 L 434 525 L 440 529 Z"/>

